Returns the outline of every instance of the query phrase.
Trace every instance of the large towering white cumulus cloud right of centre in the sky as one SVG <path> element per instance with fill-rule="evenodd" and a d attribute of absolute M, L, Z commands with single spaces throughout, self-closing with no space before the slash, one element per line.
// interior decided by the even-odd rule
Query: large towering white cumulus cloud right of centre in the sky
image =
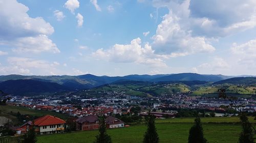
<path fill-rule="evenodd" d="M 152 46 L 157 53 L 166 54 L 167 57 L 177 57 L 215 50 L 205 37 L 192 36 L 179 22 L 180 18 L 172 10 L 163 16 L 156 35 L 152 37 L 154 40 Z"/>

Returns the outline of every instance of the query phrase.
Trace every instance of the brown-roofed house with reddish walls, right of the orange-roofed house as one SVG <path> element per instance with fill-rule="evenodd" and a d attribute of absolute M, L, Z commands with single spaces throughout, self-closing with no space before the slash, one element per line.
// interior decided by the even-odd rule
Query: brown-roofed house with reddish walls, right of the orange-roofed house
<path fill-rule="evenodd" d="M 82 131 L 97 130 L 99 128 L 99 120 L 97 116 L 89 115 L 76 120 L 76 129 Z"/>

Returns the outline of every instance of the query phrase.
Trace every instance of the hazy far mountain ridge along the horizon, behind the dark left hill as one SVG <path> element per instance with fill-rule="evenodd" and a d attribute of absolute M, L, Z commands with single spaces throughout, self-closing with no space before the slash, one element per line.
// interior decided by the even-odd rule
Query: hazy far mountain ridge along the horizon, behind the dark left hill
<path fill-rule="evenodd" d="M 35 81 L 55 82 L 63 85 L 69 90 L 77 91 L 83 89 L 91 89 L 104 84 L 110 84 L 116 81 L 127 82 L 146 81 L 146 82 L 169 82 L 169 83 L 184 83 L 186 85 L 199 84 L 198 81 L 220 81 L 234 76 L 225 75 L 203 75 L 196 73 L 179 73 L 179 74 L 157 74 L 157 75 L 126 75 L 126 76 L 96 76 L 92 74 L 70 76 L 70 75 L 53 75 L 53 76 L 35 76 L 35 75 L 2 75 L 0 76 L 0 83 L 7 80 L 30 79 Z M 183 81 L 183 82 L 181 82 Z M 184 82 L 189 81 L 189 82 Z M 193 82 L 192 82 L 193 81 Z M 197 81 L 197 82 L 195 82 Z M 203 83 L 200 83 L 203 84 Z"/>

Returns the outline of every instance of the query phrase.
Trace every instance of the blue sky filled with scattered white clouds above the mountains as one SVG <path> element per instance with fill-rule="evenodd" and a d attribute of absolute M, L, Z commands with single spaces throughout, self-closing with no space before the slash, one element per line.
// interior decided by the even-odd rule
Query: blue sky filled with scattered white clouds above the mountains
<path fill-rule="evenodd" d="M 256 75 L 255 0 L 0 0 L 0 75 Z"/>

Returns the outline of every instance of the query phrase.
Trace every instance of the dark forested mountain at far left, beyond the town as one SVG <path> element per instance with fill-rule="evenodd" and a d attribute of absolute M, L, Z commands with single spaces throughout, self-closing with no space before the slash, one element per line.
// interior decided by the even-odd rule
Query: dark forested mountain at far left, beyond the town
<path fill-rule="evenodd" d="M 17 79 L 1 82 L 0 90 L 8 94 L 23 95 L 25 93 L 53 93 L 69 91 L 70 89 L 54 82 Z"/>

